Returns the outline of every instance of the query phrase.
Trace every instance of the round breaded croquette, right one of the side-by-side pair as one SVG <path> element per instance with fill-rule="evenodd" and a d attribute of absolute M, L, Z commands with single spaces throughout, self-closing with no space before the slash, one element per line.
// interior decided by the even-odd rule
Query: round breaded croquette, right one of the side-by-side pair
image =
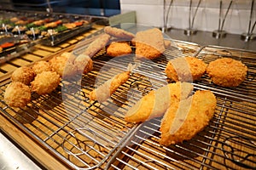
<path fill-rule="evenodd" d="M 218 86 L 237 87 L 247 76 L 247 66 L 235 59 L 216 59 L 207 66 L 207 74 Z"/>

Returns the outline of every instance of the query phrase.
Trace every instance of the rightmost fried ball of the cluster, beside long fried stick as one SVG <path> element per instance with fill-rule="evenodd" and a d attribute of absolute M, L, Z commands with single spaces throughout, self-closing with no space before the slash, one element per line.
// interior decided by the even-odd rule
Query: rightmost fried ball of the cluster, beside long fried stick
<path fill-rule="evenodd" d="M 90 59 L 88 55 L 80 54 L 74 60 L 74 66 L 79 73 L 83 72 L 84 74 L 86 74 L 93 68 L 92 59 Z"/>

